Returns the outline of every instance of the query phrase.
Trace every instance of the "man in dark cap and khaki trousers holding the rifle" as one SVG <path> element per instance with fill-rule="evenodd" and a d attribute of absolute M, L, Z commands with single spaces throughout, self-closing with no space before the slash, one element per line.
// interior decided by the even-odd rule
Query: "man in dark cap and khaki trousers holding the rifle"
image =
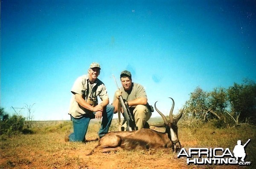
<path fill-rule="evenodd" d="M 115 92 L 112 105 L 115 107 L 114 113 L 117 112 L 119 97 L 122 96 L 128 102 L 130 111 L 133 112 L 137 129 L 142 129 L 152 115 L 153 109 L 148 105 L 148 98 L 145 89 L 138 83 L 133 83 L 131 72 L 125 70 L 120 74 L 122 87 Z M 126 128 L 123 123 L 122 130 Z"/>

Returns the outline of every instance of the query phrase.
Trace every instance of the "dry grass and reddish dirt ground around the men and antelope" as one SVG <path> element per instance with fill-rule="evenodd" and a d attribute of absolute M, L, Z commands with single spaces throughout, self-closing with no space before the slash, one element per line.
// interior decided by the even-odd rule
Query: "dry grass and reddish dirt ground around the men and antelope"
<path fill-rule="evenodd" d="M 96 137 L 99 123 L 90 123 L 86 137 Z M 242 126 L 233 129 L 215 129 L 211 126 L 194 129 L 179 128 L 182 146 L 186 149 L 196 147 L 222 147 L 233 150 L 237 140 L 242 142 L 251 139 L 246 147 L 247 158 L 252 164 L 249 167 L 215 165 L 187 165 L 185 158 L 177 154 L 163 152 L 146 152 L 140 150 L 111 153 L 90 152 L 97 141 L 87 143 L 66 143 L 64 135 L 72 130 L 71 121 L 35 122 L 33 135 L 17 135 L 12 138 L 2 137 L 0 144 L 0 168 L 36 168 L 36 169 L 180 169 L 180 168 L 255 168 L 256 163 L 256 127 Z M 111 131 L 117 130 L 113 121 Z"/>

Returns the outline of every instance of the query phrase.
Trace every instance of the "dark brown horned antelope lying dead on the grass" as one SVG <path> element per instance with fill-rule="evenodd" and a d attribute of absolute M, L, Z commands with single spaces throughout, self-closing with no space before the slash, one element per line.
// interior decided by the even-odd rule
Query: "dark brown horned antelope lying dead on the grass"
<path fill-rule="evenodd" d="M 172 109 L 170 111 L 169 120 L 167 120 L 163 113 L 157 109 L 156 103 L 154 104 L 154 107 L 163 118 L 164 123 L 154 126 L 165 127 L 165 132 L 157 132 L 151 129 L 140 129 L 131 132 L 109 132 L 99 140 L 99 144 L 95 149 L 93 149 L 93 152 L 110 152 L 120 149 L 162 149 L 166 151 L 166 148 L 168 148 L 168 151 L 169 149 L 172 149 L 174 152 L 176 152 L 176 143 L 180 144 L 178 139 L 177 122 L 180 120 L 183 110 L 176 117 L 173 117 L 172 112 L 175 103 L 172 99 Z"/>

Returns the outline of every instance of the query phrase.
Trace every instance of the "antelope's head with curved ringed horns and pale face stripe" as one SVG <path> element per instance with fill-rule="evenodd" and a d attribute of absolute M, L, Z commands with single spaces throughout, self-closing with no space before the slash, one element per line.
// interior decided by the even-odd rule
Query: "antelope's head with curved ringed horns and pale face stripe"
<path fill-rule="evenodd" d="M 169 97 L 169 98 L 172 99 L 171 97 Z M 156 101 L 156 103 L 157 103 L 157 101 Z M 166 133 L 168 133 L 169 139 L 172 141 L 172 143 L 175 146 L 176 143 L 179 143 L 177 122 L 180 120 L 180 117 L 182 116 L 183 110 L 182 110 L 182 112 L 180 112 L 180 114 L 178 114 L 176 117 L 174 117 L 172 115 L 172 113 L 173 113 L 175 103 L 174 103 L 174 100 L 172 99 L 172 108 L 170 110 L 169 120 L 167 120 L 167 118 L 163 115 L 163 113 L 161 113 L 157 109 L 156 103 L 154 104 L 154 107 L 155 107 L 156 111 L 163 118 L 163 124 L 157 125 L 157 127 L 165 127 L 166 128 Z"/>

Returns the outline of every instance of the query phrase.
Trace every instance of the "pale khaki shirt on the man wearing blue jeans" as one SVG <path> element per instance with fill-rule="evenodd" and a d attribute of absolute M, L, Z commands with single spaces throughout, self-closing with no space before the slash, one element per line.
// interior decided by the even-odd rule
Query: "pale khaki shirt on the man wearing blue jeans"
<path fill-rule="evenodd" d="M 70 109 L 68 114 L 72 115 L 75 118 L 82 117 L 86 113 L 92 113 L 90 110 L 85 109 L 84 107 L 80 106 L 75 99 L 75 94 L 82 95 L 85 101 L 87 101 L 87 97 L 94 97 L 96 98 L 96 101 L 98 102 L 97 96 L 101 100 L 108 99 L 108 93 L 106 86 L 104 83 L 97 79 L 95 83 L 90 84 L 89 82 L 89 76 L 88 74 L 80 76 L 76 79 L 71 92 L 73 93 L 71 100 L 70 100 Z M 87 89 L 88 87 L 88 89 Z M 87 91 L 88 90 L 88 91 Z M 87 96 L 88 94 L 88 96 Z"/>

